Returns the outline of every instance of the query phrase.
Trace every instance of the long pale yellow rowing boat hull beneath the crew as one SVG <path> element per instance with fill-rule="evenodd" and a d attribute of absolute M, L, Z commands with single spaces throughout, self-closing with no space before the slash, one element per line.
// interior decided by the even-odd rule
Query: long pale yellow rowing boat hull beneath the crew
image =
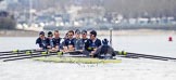
<path fill-rule="evenodd" d="M 37 57 L 34 61 L 40 62 L 53 62 L 53 63 L 83 63 L 83 64 L 98 64 L 98 63 L 122 63 L 121 59 L 99 59 L 99 58 L 88 58 L 88 57 Z"/>

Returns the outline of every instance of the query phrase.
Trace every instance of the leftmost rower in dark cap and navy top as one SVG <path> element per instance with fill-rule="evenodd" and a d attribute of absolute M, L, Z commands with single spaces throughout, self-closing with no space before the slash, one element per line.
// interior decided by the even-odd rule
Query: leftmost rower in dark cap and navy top
<path fill-rule="evenodd" d="M 47 38 L 45 37 L 45 32 L 39 32 L 39 38 L 36 40 L 36 44 L 39 45 L 39 50 L 46 50 L 47 49 Z"/>

